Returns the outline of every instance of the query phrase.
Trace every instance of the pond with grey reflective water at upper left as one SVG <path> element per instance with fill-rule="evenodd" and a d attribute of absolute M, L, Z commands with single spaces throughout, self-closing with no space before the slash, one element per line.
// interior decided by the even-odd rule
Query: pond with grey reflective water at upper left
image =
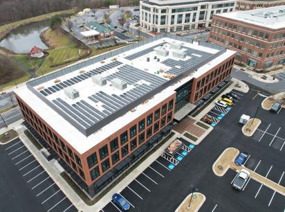
<path fill-rule="evenodd" d="M 33 46 L 47 49 L 39 35 L 49 27 L 50 21 L 39 21 L 12 30 L 0 42 L 0 46 L 15 53 L 29 53 Z"/>

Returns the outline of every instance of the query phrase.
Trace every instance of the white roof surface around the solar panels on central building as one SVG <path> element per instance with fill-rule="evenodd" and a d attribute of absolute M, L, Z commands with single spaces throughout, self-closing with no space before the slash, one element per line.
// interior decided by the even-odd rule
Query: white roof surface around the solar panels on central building
<path fill-rule="evenodd" d="M 171 42 L 176 42 L 179 44 L 183 44 L 183 48 L 181 51 L 187 52 L 187 56 L 184 59 L 174 58 L 172 56 L 172 50 L 170 48 Z M 160 46 L 160 44 L 163 44 L 163 46 Z M 134 55 L 135 53 L 139 53 L 141 51 L 146 50 L 147 48 L 153 48 L 156 46 L 153 51 L 150 51 L 149 53 L 146 53 L 145 55 L 138 56 L 136 55 L 133 60 L 128 60 L 127 56 Z M 156 51 L 154 51 L 156 48 L 164 48 L 165 50 L 169 51 L 169 55 L 166 57 L 156 55 Z M 145 85 L 146 87 L 154 86 L 154 82 L 158 82 L 159 79 L 163 80 L 164 82 L 167 82 L 169 78 L 165 78 L 167 76 L 167 72 L 170 69 L 180 69 L 178 65 L 175 65 L 175 67 L 172 65 L 172 67 L 169 67 L 169 65 L 165 62 L 178 62 L 179 60 L 181 64 L 187 64 L 191 63 L 194 60 L 201 60 L 205 57 L 205 55 L 212 55 L 214 53 L 217 53 L 218 50 L 214 48 L 208 48 L 205 46 L 199 46 L 198 43 L 194 42 L 193 44 L 185 43 L 181 41 L 177 41 L 174 39 L 170 39 L 167 37 L 164 37 L 162 39 L 158 39 L 157 41 L 151 42 L 149 44 L 145 44 L 143 46 L 140 46 L 138 48 L 131 49 L 129 51 L 126 51 L 125 53 L 121 53 L 120 55 L 116 55 L 116 57 L 108 58 L 104 60 L 104 63 L 97 62 L 95 64 L 91 64 L 88 67 L 84 67 L 80 70 L 73 71 L 72 73 L 67 73 L 64 76 L 61 76 L 57 78 L 57 80 L 60 80 L 61 82 L 64 82 L 65 80 L 71 79 L 75 76 L 78 76 L 80 73 L 88 72 L 96 70 L 100 67 L 103 67 L 107 64 L 112 64 L 114 62 L 114 58 L 116 58 L 117 62 L 120 62 L 120 65 L 117 67 L 113 67 L 107 71 L 102 71 L 102 76 L 107 78 L 107 85 L 96 85 L 91 78 L 86 78 L 85 80 L 82 80 L 81 82 L 75 83 L 75 85 L 72 85 L 74 89 L 80 92 L 80 97 L 75 98 L 74 100 L 71 98 L 68 98 L 66 94 L 64 94 L 64 89 L 61 89 L 59 91 L 55 91 L 53 94 L 50 94 L 46 96 L 46 100 L 50 101 L 50 103 L 53 103 L 53 100 L 61 99 L 65 103 L 67 103 L 70 107 L 76 107 L 78 103 L 80 103 L 82 100 L 84 100 L 86 103 L 91 105 L 91 107 L 98 110 L 98 112 L 101 112 L 102 114 L 106 113 L 108 114 L 106 103 L 103 103 L 102 100 L 98 99 L 98 102 L 91 100 L 89 97 L 98 94 L 107 96 L 117 96 L 120 97 L 120 95 L 125 94 L 127 91 L 131 91 L 133 89 L 136 89 L 136 87 L 140 87 L 141 85 Z M 205 53 L 205 55 L 203 55 Z M 128 110 L 125 114 L 120 116 L 119 118 L 114 119 L 107 125 L 104 125 L 100 130 L 93 132 L 93 134 L 89 136 L 85 136 L 80 132 L 80 130 L 77 130 L 77 127 L 72 125 L 70 122 L 68 122 L 63 116 L 58 114 L 52 107 L 49 107 L 46 103 L 44 103 L 43 100 L 41 100 L 37 95 L 33 94 L 30 89 L 28 89 L 26 86 L 21 87 L 19 89 L 15 90 L 15 93 L 23 99 L 26 104 L 28 104 L 39 116 L 41 116 L 50 127 L 53 127 L 53 129 L 60 134 L 70 145 L 77 150 L 80 154 L 83 154 L 87 150 L 93 148 L 95 145 L 103 141 L 104 139 L 107 139 L 111 134 L 114 134 L 118 130 L 122 128 L 122 126 L 125 126 L 129 124 L 132 120 L 138 118 L 145 112 L 149 111 L 152 107 L 155 105 L 158 105 L 161 101 L 165 100 L 169 96 L 172 96 L 172 94 L 175 93 L 175 89 L 180 87 L 181 85 L 185 84 L 185 82 L 191 80 L 192 78 L 196 78 L 201 76 L 203 73 L 207 72 L 208 70 L 212 69 L 212 67 L 216 66 L 217 64 L 221 63 L 226 58 L 229 58 L 235 54 L 235 51 L 227 50 L 226 52 L 219 55 L 217 58 L 214 58 L 214 60 L 208 62 L 207 64 L 204 64 L 203 67 L 199 68 L 194 73 L 191 73 L 189 76 L 181 79 L 180 81 L 176 82 L 175 84 L 166 87 L 159 93 L 155 94 L 152 98 L 149 98 L 147 103 L 143 103 L 140 105 L 136 105 L 135 110 L 131 109 Z M 157 61 L 156 58 L 160 59 L 160 62 Z M 147 58 L 149 58 L 149 62 L 147 62 Z M 172 59 L 172 60 L 170 60 Z M 183 62 L 184 61 L 184 62 Z M 140 78 L 136 81 L 136 83 L 131 84 L 131 82 L 128 82 L 127 89 L 120 90 L 115 87 L 111 86 L 111 78 L 112 76 L 118 76 L 120 78 L 120 74 L 124 74 L 124 67 L 129 65 L 129 67 L 134 67 L 138 72 L 143 71 L 145 73 L 145 78 Z M 163 70 L 163 73 L 161 73 L 159 70 Z M 121 72 L 120 72 L 121 71 Z M 137 73 L 138 73 L 137 72 Z M 151 80 L 147 79 L 147 76 L 152 76 L 151 80 L 154 82 L 151 82 Z M 169 75 L 171 75 L 169 73 Z M 136 71 L 134 71 L 134 75 L 131 75 L 129 79 L 135 79 L 136 78 Z M 128 78 L 127 78 L 128 80 Z M 36 91 L 39 92 L 37 89 L 40 89 L 43 91 L 44 89 L 54 86 L 58 84 L 59 82 L 55 83 L 55 79 L 49 80 L 48 82 L 44 82 L 38 86 L 35 87 Z M 44 88 L 43 88 L 44 87 Z M 127 100 L 127 98 L 125 99 Z M 111 100 L 109 100 L 109 103 L 111 103 Z M 123 103 L 118 100 L 117 102 L 119 105 Z M 114 104 L 112 104 L 115 106 Z M 68 112 L 66 112 L 68 115 Z M 105 115 L 106 115 L 105 114 Z M 87 120 L 88 118 L 82 118 L 83 121 L 91 122 L 92 120 Z M 96 124 L 96 123 L 95 123 Z"/>

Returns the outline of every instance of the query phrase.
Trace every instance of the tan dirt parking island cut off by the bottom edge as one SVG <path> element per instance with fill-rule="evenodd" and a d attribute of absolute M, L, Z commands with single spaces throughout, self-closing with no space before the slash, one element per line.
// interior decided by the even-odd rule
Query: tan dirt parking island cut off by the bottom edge
<path fill-rule="evenodd" d="M 192 194 L 188 195 L 185 200 L 178 206 L 175 212 L 194 212 L 198 211 L 202 204 L 205 202 L 205 196 L 201 193 L 193 193 L 193 197 L 191 200 Z M 190 204 L 191 200 L 191 204 Z M 190 208 L 188 206 L 190 204 Z"/>

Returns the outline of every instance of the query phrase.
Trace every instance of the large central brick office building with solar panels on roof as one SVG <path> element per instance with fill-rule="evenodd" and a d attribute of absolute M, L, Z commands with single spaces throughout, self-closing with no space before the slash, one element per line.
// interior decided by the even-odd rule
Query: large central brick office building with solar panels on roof
<path fill-rule="evenodd" d="M 230 76 L 235 51 L 178 38 L 151 37 L 15 90 L 24 119 L 91 197 Z"/>

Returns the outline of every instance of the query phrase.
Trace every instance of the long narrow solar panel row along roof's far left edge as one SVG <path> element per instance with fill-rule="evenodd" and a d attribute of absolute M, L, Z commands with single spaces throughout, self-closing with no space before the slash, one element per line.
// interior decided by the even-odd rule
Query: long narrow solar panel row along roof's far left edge
<path fill-rule="evenodd" d="M 82 73 L 80 75 L 77 75 L 73 78 L 70 78 L 69 80 L 64 80 L 63 82 L 59 82 L 53 86 L 50 86 L 46 89 L 43 89 L 39 91 L 41 94 L 44 96 L 48 96 L 50 94 L 53 94 L 57 91 L 60 91 L 64 89 L 65 87 L 75 85 L 77 82 L 81 82 L 83 80 L 86 80 L 90 78 L 92 75 L 96 75 L 98 73 L 102 73 L 104 71 L 108 71 L 109 69 L 113 69 L 114 67 L 118 67 L 122 62 L 115 61 L 115 62 L 110 62 L 109 64 L 104 64 L 102 67 L 98 67 L 97 69 L 94 69 L 92 71 L 88 71 L 86 73 Z"/>

